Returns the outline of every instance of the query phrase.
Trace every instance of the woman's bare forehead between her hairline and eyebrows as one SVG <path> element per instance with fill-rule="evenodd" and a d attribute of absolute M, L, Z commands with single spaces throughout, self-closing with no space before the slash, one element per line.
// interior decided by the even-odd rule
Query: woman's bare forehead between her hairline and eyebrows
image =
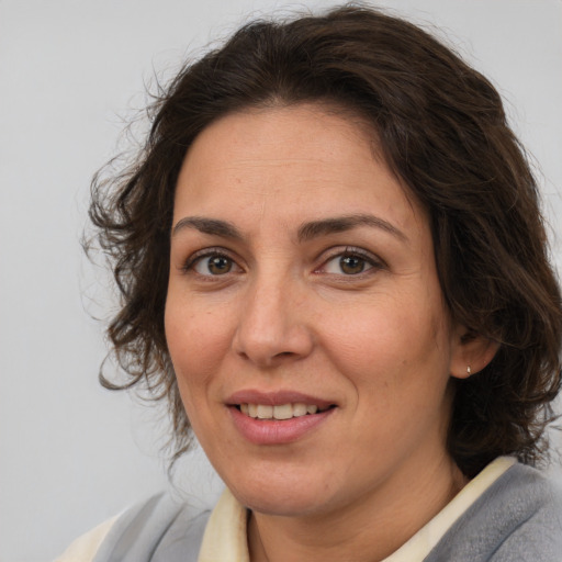
<path fill-rule="evenodd" d="M 400 228 L 425 215 L 378 156 L 364 122 L 315 104 L 226 115 L 189 149 L 175 222 L 201 213 L 251 220 L 251 210 L 288 222 L 371 211 Z"/>

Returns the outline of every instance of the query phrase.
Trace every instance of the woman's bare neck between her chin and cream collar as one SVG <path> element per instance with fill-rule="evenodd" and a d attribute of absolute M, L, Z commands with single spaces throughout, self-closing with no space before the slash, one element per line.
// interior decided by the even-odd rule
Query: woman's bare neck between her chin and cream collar
<path fill-rule="evenodd" d="M 390 480 L 352 504 L 318 514 L 286 517 L 252 513 L 248 521 L 251 562 L 382 561 L 467 484 L 448 457 L 431 470 L 393 474 Z"/>

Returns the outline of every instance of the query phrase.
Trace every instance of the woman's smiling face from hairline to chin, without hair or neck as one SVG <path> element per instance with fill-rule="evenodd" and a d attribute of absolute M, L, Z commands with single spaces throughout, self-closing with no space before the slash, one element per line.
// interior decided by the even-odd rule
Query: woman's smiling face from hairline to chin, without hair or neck
<path fill-rule="evenodd" d="M 452 465 L 460 330 L 428 218 L 373 155 L 300 105 L 221 119 L 181 169 L 169 351 L 207 457 L 261 513 L 395 502 Z"/>

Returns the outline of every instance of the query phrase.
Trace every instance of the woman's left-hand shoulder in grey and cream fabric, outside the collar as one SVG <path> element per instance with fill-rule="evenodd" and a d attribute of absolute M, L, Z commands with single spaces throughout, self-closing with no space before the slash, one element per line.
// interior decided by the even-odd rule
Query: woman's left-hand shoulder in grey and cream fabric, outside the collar
<path fill-rule="evenodd" d="M 56 562 L 196 561 L 210 513 L 158 494 L 79 538 Z"/>

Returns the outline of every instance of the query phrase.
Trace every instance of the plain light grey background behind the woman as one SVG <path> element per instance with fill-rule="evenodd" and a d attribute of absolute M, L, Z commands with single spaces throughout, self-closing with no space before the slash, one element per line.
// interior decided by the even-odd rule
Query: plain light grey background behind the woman
<path fill-rule="evenodd" d="M 290 4 L 318 7 L 335 2 Z M 0 0 L 0 561 L 52 559 L 72 538 L 167 485 L 166 424 L 103 391 L 103 271 L 82 257 L 89 181 L 115 154 L 123 117 L 156 70 L 248 14 L 250 0 Z M 562 2 L 379 2 L 442 26 L 499 86 L 516 132 L 541 164 L 546 209 L 562 211 Z M 562 265 L 559 241 L 554 258 Z M 201 458 L 179 485 L 211 503 Z"/>

